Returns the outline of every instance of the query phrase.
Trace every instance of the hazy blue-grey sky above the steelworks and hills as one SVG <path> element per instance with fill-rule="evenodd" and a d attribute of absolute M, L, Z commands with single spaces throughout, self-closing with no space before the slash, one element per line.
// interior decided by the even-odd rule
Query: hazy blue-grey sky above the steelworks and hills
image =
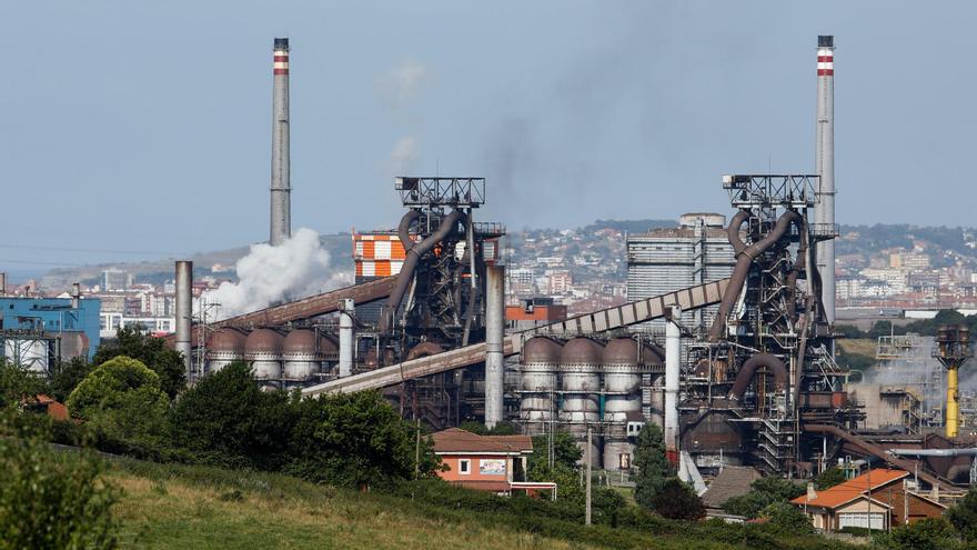
<path fill-rule="evenodd" d="M 819 33 L 838 221 L 977 226 L 974 6 L 2 2 L 0 259 L 266 239 L 276 36 L 294 228 L 395 226 L 394 172 L 484 176 L 513 229 L 728 213 L 721 174 L 813 169 Z"/>

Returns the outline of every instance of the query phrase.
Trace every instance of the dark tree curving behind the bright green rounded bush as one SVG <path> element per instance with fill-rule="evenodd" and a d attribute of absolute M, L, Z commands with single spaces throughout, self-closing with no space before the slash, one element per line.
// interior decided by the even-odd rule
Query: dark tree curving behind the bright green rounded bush
<path fill-rule="evenodd" d="M 142 361 L 160 377 L 162 390 L 173 399 L 187 384 L 183 356 L 167 347 L 162 338 L 154 338 L 140 326 L 120 328 L 115 341 L 99 346 L 94 364 L 125 356 Z"/>

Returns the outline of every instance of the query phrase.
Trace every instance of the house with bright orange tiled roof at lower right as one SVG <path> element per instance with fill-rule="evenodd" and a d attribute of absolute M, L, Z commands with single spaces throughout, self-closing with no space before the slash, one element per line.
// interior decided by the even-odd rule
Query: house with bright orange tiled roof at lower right
<path fill-rule="evenodd" d="M 910 490 L 909 472 L 876 468 L 829 489 L 790 503 L 804 510 L 815 529 L 839 531 L 846 527 L 887 530 L 923 518 L 943 514 L 946 506 Z"/>

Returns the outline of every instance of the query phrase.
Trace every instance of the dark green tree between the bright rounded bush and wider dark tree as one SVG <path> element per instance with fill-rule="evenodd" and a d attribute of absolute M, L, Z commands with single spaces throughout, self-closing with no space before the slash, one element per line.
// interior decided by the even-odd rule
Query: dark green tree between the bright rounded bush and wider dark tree
<path fill-rule="evenodd" d="M 272 470 L 285 461 L 293 422 L 288 393 L 262 391 L 251 367 L 235 361 L 180 396 L 168 432 L 193 461 Z"/>

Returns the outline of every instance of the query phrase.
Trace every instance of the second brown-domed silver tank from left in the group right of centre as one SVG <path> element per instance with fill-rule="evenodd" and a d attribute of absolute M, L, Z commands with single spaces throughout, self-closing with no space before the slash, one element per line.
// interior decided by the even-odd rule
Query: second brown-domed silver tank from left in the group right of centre
<path fill-rule="evenodd" d="M 561 388 L 564 392 L 560 421 L 576 438 L 577 444 L 584 451 L 584 460 L 587 452 L 587 424 L 601 420 L 597 393 L 601 391 L 603 351 L 603 346 L 590 338 L 574 338 L 563 346 L 560 354 Z M 600 436 L 592 439 L 591 463 L 594 466 L 601 462 L 598 440 Z"/>

